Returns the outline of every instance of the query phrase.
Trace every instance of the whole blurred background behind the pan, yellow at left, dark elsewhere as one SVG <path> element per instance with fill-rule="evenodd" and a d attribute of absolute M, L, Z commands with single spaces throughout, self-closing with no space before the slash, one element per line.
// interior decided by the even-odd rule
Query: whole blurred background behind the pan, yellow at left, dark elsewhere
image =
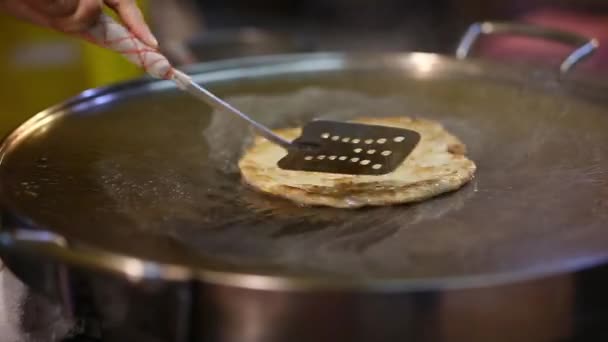
<path fill-rule="evenodd" d="M 608 38 L 606 0 L 141 0 L 166 52 L 180 65 L 311 51 L 452 54 L 469 24 L 524 21 Z M 141 75 L 121 57 L 0 18 L 0 133 L 84 89 Z M 604 44 L 608 45 L 608 44 Z M 559 63 L 571 49 L 493 37 L 476 54 L 515 63 Z M 584 64 L 606 76 L 606 48 Z"/>

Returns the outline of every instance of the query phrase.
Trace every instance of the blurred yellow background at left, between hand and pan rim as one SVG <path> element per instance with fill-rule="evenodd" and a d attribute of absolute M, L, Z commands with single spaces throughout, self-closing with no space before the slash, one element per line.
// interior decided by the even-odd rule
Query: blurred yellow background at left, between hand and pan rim
<path fill-rule="evenodd" d="M 147 1 L 139 1 L 147 13 Z M 138 77 L 121 56 L 0 13 L 0 135 L 83 90 Z"/>

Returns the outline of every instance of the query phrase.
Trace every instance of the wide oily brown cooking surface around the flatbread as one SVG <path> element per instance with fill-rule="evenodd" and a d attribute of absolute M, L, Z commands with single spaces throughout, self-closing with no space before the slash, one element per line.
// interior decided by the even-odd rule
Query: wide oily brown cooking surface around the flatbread
<path fill-rule="evenodd" d="M 200 81 L 273 128 L 314 117 L 438 120 L 468 145 L 476 180 L 410 206 L 297 207 L 241 184 L 244 124 L 156 82 L 92 96 L 21 132 L 0 168 L 6 199 L 69 239 L 207 269 L 445 280 L 606 257 L 608 117 L 599 103 L 554 84 L 522 86 L 515 73 L 483 79 L 475 75 L 487 70 L 469 63 L 454 72 L 456 63 L 432 55 L 281 61 Z"/>

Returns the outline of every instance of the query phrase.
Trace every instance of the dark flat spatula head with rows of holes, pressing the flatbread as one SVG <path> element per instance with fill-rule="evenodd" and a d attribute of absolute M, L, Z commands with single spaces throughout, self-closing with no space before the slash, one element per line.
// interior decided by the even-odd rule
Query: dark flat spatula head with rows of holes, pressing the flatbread
<path fill-rule="evenodd" d="M 290 149 L 278 162 L 285 170 L 349 175 L 393 172 L 414 150 L 420 134 L 403 128 L 318 120 L 293 141 L 309 149 Z"/>

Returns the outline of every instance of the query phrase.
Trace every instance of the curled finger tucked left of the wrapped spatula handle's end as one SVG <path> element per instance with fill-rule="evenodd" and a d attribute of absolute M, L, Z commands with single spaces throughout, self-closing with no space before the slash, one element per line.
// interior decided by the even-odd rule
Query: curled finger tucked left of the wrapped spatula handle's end
<path fill-rule="evenodd" d="M 100 14 L 99 0 L 80 0 L 75 12 L 67 17 L 52 19 L 51 27 L 65 33 L 82 33 L 97 23 Z"/>

